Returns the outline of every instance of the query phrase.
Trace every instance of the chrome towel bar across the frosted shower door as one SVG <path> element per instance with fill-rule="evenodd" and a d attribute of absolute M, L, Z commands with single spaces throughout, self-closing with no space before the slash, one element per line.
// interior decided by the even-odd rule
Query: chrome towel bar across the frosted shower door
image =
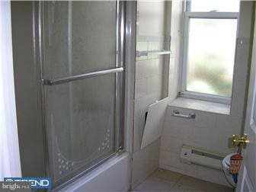
<path fill-rule="evenodd" d="M 123 67 L 115 68 L 115 69 L 107 69 L 107 70 L 102 70 L 98 72 L 88 72 L 88 73 L 83 73 L 80 75 L 73 75 L 70 77 L 64 77 L 64 78 L 56 78 L 56 79 L 42 79 L 42 84 L 43 85 L 58 85 L 66 82 L 73 82 L 73 81 L 78 81 L 84 78 L 92 78 L 98 75 L 106 75 L 110 73 L 116 73 L 116 72 L 123 72 Z"/>

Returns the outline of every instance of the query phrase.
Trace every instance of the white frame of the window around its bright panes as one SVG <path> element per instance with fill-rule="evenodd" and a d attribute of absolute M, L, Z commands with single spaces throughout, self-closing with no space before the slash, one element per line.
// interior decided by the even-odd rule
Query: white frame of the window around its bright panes
<path fill-rule="evenodd" d="M 222 96 L 217 94 L 206 94 L 195 91 L 187 91 L 187 53 L 188 53 L 188 39 L 189 39 L 189 24 L 190 18 L 206 18 L 206 19 L 236 19 L 238 26 L 239 12 L 218 12 L 218 11 L 190 11 L 190 2 L 184 2 L 184 40 L 183 40 L 183 56 L 181 59 L 181 91 L 180 96 L 184 98 L 194 98 L 204 101 L 213 101 L 222 104 L 231 104 L 232 96 Z M 235 62 L 234 62 L 235 65 Z M 232 83 L 233 86 L 233 83 Z"/>

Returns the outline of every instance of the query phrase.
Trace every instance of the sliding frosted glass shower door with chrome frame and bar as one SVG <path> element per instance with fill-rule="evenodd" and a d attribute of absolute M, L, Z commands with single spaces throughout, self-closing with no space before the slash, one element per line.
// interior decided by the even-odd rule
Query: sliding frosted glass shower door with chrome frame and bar
<path fill-rule="evenodd" d="M 44 126 L 53 187 L 123 149 L 123 6 L 40 2 Z"/>

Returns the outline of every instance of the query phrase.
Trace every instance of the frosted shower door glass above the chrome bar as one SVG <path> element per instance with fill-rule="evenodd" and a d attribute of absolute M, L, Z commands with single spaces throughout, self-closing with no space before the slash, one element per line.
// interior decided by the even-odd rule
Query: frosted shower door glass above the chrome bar
<path fill-rule="evenodd" d="M 114 1 L 46 3 L 43 77 L 61 78 L 114 68 L 116 6 Z"/>

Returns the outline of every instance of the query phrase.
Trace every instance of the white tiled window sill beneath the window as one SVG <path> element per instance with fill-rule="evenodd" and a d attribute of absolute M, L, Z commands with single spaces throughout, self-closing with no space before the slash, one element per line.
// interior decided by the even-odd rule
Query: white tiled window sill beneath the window
<path fill-rule="evenodd" d="M 168 106 L 181 107 L 192 110 L 202 110 L 216 114 L 230 114 L 230 104 L 219 104 L 212 101 L 201 101 L 190 98 L 176 98 Z"/>

